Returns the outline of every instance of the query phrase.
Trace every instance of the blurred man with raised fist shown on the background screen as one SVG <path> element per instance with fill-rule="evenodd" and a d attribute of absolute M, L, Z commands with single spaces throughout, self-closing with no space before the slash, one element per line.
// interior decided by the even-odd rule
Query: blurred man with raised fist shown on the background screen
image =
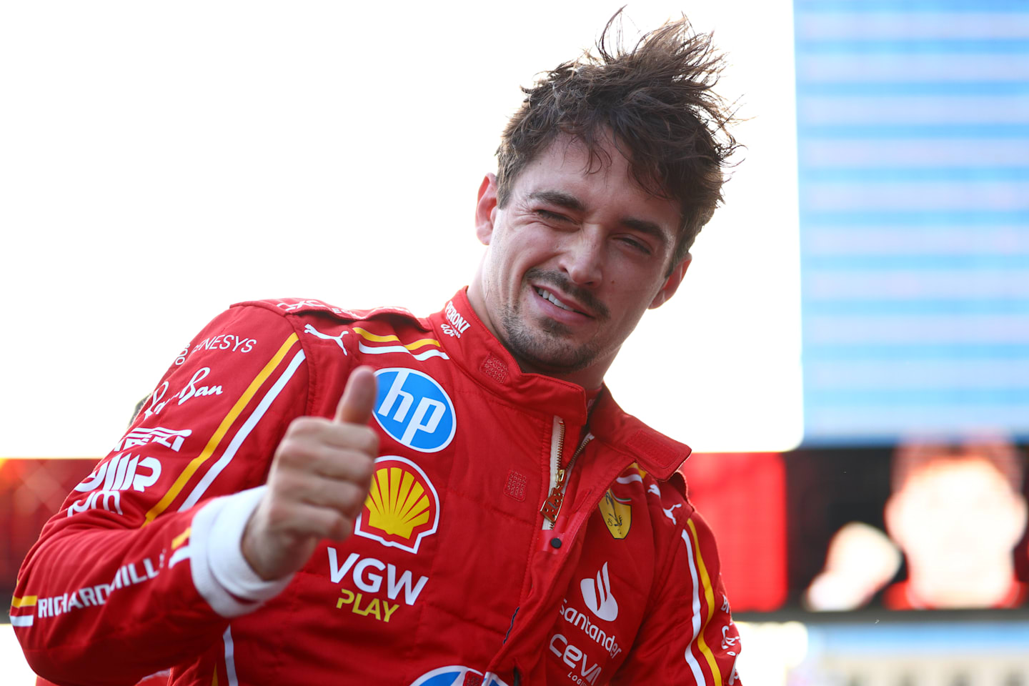
<path fill-rule="evenodd" d="M 1024 455 L 1003 438 L 900 443 L 883 509 L 886 532 L 859 521 L 841 528 L 805 603 L 853 610 L 885 587 L 882 603 L 891 610 L 1021 606 L 1026 584 L 1015 559 L 1025 554 L 1024 473 Z M 890 584 L 902 562 L 904 578 Z"/>

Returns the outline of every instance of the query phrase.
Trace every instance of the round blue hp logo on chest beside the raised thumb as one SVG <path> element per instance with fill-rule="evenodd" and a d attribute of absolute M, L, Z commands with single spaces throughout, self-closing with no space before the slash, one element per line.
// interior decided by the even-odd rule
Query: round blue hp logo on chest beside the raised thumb
<path fill-rule="evenodd" d="M 398 442 L 419 453 L 450 445 L 457 429 L 454 403 L 432 376 L 392 367 L 376 371 L 376 422 Z"/>

